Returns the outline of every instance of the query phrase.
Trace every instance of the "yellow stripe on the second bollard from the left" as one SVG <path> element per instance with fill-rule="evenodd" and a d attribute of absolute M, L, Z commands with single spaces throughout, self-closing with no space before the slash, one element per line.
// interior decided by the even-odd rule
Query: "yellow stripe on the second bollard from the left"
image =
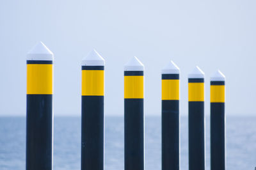
<path fill-rule="evenodd" d="M 104 96 L 104 70 L 82 70 L 82 96 Z"/>

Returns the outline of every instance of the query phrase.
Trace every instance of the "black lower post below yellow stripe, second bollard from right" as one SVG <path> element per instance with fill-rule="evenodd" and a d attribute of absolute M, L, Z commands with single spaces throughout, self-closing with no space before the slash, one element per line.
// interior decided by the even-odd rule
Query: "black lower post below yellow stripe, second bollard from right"
<path fill-rule="evenodd" d="M 205 169 L 204 102 L 189 102 L 189 170 Z"/>

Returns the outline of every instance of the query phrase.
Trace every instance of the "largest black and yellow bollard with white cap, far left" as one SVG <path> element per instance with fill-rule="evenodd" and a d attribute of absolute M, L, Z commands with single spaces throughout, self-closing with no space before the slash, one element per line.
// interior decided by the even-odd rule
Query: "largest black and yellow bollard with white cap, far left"
<path fill-rule="evenodd" d="M 52 169 L 53 54 L 39 42 L 27 56 L 26 169 Z"/>

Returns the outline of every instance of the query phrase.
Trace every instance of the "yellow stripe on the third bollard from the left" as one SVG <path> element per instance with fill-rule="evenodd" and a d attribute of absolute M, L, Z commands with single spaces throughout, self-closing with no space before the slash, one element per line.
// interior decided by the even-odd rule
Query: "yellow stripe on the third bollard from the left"
<path fill-rule="evenodd" d="M 144 77 L 141 75 L 124 77 L 124 98 L 144 98 Z"/>

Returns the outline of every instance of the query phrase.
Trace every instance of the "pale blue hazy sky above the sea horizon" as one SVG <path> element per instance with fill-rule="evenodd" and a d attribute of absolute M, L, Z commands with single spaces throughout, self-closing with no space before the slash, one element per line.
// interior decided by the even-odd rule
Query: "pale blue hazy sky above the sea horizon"
<path fill-rule="evenodd" d="M 42 41 L 54 53 L 54 115 L 81 115 L 81 59 L 106 60 L 105 114 L 124 115 L 124 65 L 145 65 L 145 116 L 161 115 L 161 69 L 180 68 L 180 114 L 188 73 L 226 76 L 227 115 L 255 115 L 256 1 L 40 0 L 0 2 L 0 116 L 26 116 L 26 54 Z"/>

